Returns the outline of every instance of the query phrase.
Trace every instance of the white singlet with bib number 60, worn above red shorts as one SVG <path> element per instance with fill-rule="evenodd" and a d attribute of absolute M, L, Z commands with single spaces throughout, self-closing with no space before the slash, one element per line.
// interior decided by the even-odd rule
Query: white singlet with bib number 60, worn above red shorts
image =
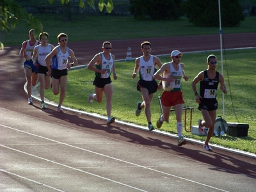
<path fill-rule="evenodd" d="M 168 92 L 179 92 L 182 88 L 181 86 L 181 79 L 182 79 L 182 67 L 180 65 L 180 63 L 178 64 L 179 69 L 175 70 L 175 68 L 173 67 L 173 63 L 170 62 L 170 73 L 169 74 L 164 74 L 163 77 L 164 78 L 168 78 L 170 76 L 174 77 L 172 82 L 166 82 L 166 81 L 162 81 L 163 83 L 163 88 L 164 90 L 168 91 Z"/>

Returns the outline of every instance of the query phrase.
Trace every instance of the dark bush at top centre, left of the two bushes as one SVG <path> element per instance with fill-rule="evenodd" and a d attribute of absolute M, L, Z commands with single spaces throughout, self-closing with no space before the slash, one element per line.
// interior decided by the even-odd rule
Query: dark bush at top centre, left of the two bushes
<path fill-rule="evenodd" d="M 130 12 L 135 19 L 177 20 L 181 16 L 181 2 L 182 0 L 130 0 Z"/>

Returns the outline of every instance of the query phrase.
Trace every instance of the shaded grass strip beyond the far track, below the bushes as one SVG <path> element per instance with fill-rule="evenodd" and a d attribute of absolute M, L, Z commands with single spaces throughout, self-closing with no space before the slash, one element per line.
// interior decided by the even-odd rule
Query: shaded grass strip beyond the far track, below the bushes
<path fill-rule="evenodd" d="M 111 15 L 72 15 L 72 22 L 64 23 L 62 15 L 35 14 L 49 33 L 49 43 L 57 43 L 59 33 L 67 33 L 70 42 L 90 40 L 114 40 L 184 35 L 219 34 L 219 28 L 199 28 L 193 26 L 185 17 L 179 20 L 135 20 L 132 17 Z M 239 27 L 222 28 L 225 33 L 255 33 L 256 17 L 246 17 Z M 4 46 L 20 45 L 28 38 L 31 27 L 20 22 L 12 33 L 1 31 L 0 41 Z M 2 38 L 3 37 L 3 38 Z"/>

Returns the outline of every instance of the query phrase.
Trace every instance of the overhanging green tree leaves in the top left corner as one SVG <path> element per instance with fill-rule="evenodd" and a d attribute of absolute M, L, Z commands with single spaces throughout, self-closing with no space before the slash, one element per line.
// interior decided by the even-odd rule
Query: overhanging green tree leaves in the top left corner
<path fill-rule="evenodd" d="M 49 0 L 51 4 L 54 0 Z M 104 6 L 108 13 L 111 13 L 113 10 L 113 1 L 108 0 L 108 3 L 104 3 L 105 0 L 99 1 L 99 10 L 102 12 Z M 69 0 L 61 0 L 61 4 L 68 4 Z M 83 0 L 79 0 L 79 6 L 85 8 Z M 87 0 L 88 5 L 95 10 L 94 0 Z M 20 7 L 19 3 L 14 0 L 0 0 L 0 27 L 2 30 L 6 30 L 8 33 L 11 32 L 11 29 L 14 29 L 15 26 L 19 23 L 20 20 L 25 20 L 28 22 L 29 26 L 34 29 L 34 35 L 38 36 L 43 32 L 43 25 L 38 21 L 33 15 L 28 14 L 24 8 Z M 0 45 L 1 49 L 4 49 L 4 45 L 1 42 L 0 36 Z"/>

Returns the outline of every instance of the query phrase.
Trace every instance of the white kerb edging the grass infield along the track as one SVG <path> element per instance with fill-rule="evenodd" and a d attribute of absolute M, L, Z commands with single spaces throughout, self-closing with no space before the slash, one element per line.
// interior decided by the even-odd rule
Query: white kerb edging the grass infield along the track
<path fill-rule="evenodd" d="M 256 47 L 235 48 L 235 49 L 225 49 L 225 50 L 227 51 L 227 50 L 238 50 L 238 49 L 256 49 Z M 220 51 L 220 50 L 216 49 L 216 50 L 211 50 L 211 51 Z M 195 53 L 195 52 L 209 52 L 209 51 L 183 52 L 183 54 L 189 54 L 189 53 Z M 169 56 L 169 55 L 170 54 L 162 54 L 162 55 L 157 55 L 157 56 Z M 135 58 L 132 58 L 132 60 L 134 60 L 134 59 Z M 119 61 L 125 61 L 125 60 L 116 60 L 115 62 L 119 62 Z M 84 68 L 84 67 L 87 67 L 87 65 L 80 65 L 80 66 L 77 66 L 77 67 L 72 67 L 70 70 L 76 70 L 76 69 Z M 27 83 L 24 84 L 24 91 L 28 94 L 28 91 L 26 90 L 26 84 Z M 39 95 L 38 90 L 36 89 L 36 87 L 37 86 L 34 86 L 32 88 L 31 97 L 33 97 L 33 99 L 35 99 L 36 101 L 40 102 L 41 101 L 40 95 Z M 46 98 L 45 98 L 45 103 L 47 105 L 55 107 L 55 108 L 58 107 L 58 104 L 56 104 L 54 102 L 51 102 Z M 76 109 L 66 108 L 66 107 L 62 107 L 62 106 L 61 106 L 61 108 L 65 109 L 66 111 L 79 113 L 81 115 L 87 115 L 87 116 L 92 116 L 92 117 L 95 117 L 95 118 L 99 118 L 101 120 L 107 120 L 106 116 L 102 116 L 102 115 L 99 115 L 97 113 L 87 113 L 85 111 L 79 111 L 79 110 L 76 110 Z M 148 131 L 147 127 L 143 127 L 143 126 L 136 125 L 136 124 L 129 124 L 127 122 L 122 122 L 120 120 L 115 120 L 115 123 L 120 124 L 120 125 L 125 125 L 127 127 L 132 127 L 132 128 L 135 128 L 135 129 L 141 129 L 143 131 Z M 160 130 L 156 130 L 156 129 L 154 129 L 153 131 L 150 131 L 150 132 L 153 132 L 153 133 L 156 133 L 156 134 L 161 134 L 161 135 L 168 136 L 168 137 L 171 137 L 171 138 L 178 138 L 177 134 L 171 134 L 170 132 L 160 131 Z M 204 141 L 198 141 L 198 140 L 194 140 L 194 139 L 191 139 L 191 138 L 186 138 L 186 140 L 191 142 L 191 143 L 196 143 L 198 145 L 204 145 Z M 232 152 L 234 154 L 239 154 L 239 155 L 242 155 L 242 156 L 252 157 L 252 158 L 256 159 L 256 154 L 253 154 L 253 153 L 250 153 L 250 152 L 244 152 L 244 151 L 241 151 L 241 150 L 236 150 L 234 148 L 221 147 L 220 145 L 214 145 L 214 144 L 210 144 L 210 146 L 213 147 L 213 148 L 218 148 L 220 150 L 227 151 L 227 152 Z"/>

